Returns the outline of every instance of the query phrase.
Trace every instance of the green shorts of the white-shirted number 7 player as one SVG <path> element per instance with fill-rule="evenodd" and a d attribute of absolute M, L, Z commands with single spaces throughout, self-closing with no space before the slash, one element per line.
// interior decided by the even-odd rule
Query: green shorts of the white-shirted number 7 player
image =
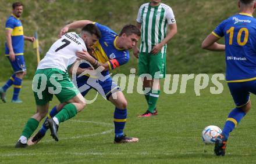
<path fill-rule="evenodd" d="M 37 70 L 32 88 L 37 105 L 47 104 L 54 94 L 61 103 L 64 103 L 80 93 L 70 81 L 67 72 L 57 68 Z"/>

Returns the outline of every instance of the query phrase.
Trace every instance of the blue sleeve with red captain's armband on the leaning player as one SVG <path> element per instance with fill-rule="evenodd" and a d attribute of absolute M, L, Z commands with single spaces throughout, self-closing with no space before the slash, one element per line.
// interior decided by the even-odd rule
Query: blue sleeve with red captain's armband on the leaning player
<path fill-rule="evenodd" d="M 113 70 L 120 65 L 123 65 L 129 61 L 129 52 L 122 52 L 123 54 L 120 55 L 120 57 L 116 57 L 115 59 L 111 59 L 107 61 L 109 70 Z"/>

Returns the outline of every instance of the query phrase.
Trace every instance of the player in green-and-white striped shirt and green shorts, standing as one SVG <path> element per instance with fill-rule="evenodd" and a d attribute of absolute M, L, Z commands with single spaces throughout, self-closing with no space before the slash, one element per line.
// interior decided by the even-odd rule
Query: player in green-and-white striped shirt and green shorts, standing
<path fill-rule="evenodd" d="M 141 29 L 140 50 L 137 46 L 133 48 L 138 58 L 138 74 L 151 75 L 142 79 L 148 109 L 140 117 L 148 117 L 158 114 L 160 79 L 165 78 L 166 73 L 166 43 L 177 33 L 177 25 L 172 9 L 161 0 L 141 5 L 136 21 Z M 170 30 L 166 33 L 168 27 Z"/>

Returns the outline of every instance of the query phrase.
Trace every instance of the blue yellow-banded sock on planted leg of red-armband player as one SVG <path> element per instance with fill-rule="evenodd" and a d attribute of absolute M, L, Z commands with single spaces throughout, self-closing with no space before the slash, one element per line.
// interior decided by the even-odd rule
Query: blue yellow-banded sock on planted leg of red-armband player
<path fill-rule="evenodd" d="M 114 112 L 114 125 L 115 125 L 115 137 L 123 136 L 123 129 L 125 128 L 127 118 L 127 109 L 120 110 L 115 109 Z"/>

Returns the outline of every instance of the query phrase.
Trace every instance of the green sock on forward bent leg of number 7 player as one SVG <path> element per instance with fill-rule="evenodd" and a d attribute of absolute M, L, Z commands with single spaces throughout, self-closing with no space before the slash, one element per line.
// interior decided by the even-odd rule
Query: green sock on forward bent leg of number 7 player
<path fill-rule="evenodd" d="M 58 119 L 59 123 L 66 121 L 67 119 L 72 118 L 77 114 L 76 106 L 72 103 L 66 104 L 58 114 L 55 115 L 55 118 Z"/>

